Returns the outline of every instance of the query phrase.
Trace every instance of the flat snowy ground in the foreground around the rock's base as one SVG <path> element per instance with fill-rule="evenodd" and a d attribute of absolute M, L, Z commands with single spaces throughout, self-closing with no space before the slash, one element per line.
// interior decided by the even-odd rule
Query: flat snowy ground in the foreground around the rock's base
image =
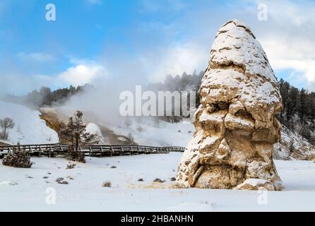
<path fill-rule="evenodd" d="M 285 191 L 170 189 L 181 155 L 87 157 L 86 164 L 74 169 L 66 169 L 69 162 L 61 158 L 33 157 L 31 169 L 0 163 L 0 211 L 315 210 L 313 162 L 275 161 Z M 58 177 L 69 184 L 58 184 Z M 153 182 L 155 178 L 165 182 Z M 107 181 L 111 188 L 102 187 Z M 54 191 L 56 203 L 47 204 Z"/>

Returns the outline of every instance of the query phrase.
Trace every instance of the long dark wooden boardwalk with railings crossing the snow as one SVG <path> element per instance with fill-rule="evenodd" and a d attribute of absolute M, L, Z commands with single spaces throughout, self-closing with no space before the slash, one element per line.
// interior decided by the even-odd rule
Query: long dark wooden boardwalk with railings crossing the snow
<path fill-rule="evenodd" d="M 11 153 L 17 145 L 0 145 L 0 158 Z M 36 144 L 20 145 L 20 148 L 30 156 L 48 156 L 64 155 L 68 152 L 68 145 L 54 144 Z M 90 145 L 81 148 L 81 151 L 87 156 L 105 157 L 117 155 L 140 155 L 140 154 L 157 154 L 170 152 L 184 152 L 183 147 L 153 147 L 144 145 Z"/>

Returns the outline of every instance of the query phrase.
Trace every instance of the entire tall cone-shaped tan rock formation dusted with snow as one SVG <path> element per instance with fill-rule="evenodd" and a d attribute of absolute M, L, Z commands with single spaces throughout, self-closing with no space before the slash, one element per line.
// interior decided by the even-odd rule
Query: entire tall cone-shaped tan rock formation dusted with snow
<path fill-rule="evenodd" d="M 196 131 L 179 164 L 177 186 L 283 189 L 272 159 L 282 99 L 266 54 L 244 23 L 230 20 L 218 30 L 198 93 Z"/>

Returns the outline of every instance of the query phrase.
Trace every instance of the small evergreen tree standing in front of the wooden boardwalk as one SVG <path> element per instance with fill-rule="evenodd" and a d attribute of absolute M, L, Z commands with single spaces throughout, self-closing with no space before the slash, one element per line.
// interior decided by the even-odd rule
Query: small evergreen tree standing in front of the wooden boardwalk
<path fill-rule="evenodd" d="M 86 125 L 83 123 L 83 113 L 77 111 L 74 117 L 69 118 L 66 128 L 60 132 L 61 138 L 69 144 L 68 155 L 73 161 L 85 162 L 85 155 L 81 148 L 97 144 L 97 135 L 85 132 Z"/>

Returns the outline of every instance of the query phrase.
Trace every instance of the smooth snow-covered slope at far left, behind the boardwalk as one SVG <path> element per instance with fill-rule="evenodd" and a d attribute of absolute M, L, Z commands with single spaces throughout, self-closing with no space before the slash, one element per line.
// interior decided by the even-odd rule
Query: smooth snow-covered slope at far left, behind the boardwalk
<path fill-rule="evenodd" d="M 46 126 L 40 119 L 40 112 L 33 111 L 22 105 L 0 102 L 0 119 L 9 117 L 15 126 L 9 130 L 9 143 L 58 143 L 57 133 Z"/>

